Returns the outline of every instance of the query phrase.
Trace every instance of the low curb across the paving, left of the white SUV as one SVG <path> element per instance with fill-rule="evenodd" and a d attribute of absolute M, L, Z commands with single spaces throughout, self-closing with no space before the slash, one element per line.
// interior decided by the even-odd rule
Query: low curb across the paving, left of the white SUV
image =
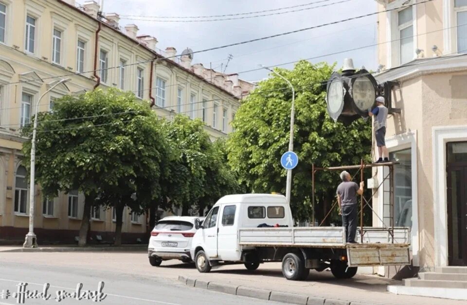
<path fill-rule="evenodd" d="M 125 252 L 125 251 L 143 251 L 147 250 L 147 245 L 138 246 L 105 246 L 105 247 L 39 247 L 39 248 L 17 248 L 10 250 L 1 250 L 1 252 Z"/>

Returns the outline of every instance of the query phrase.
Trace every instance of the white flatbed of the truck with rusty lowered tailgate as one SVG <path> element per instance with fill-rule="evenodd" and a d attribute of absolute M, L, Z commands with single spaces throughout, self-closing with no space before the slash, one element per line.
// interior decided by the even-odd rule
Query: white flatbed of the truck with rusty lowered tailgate
<path fill-rule="evenodd" d="M 238 243 L 251 247 L 338 248 L 347 250 L 349 266 L 390 266 L 410 264 L 410 229 L 364 227 L 363 243 L 345 242 L 343 227 L 242 228 Z"/>

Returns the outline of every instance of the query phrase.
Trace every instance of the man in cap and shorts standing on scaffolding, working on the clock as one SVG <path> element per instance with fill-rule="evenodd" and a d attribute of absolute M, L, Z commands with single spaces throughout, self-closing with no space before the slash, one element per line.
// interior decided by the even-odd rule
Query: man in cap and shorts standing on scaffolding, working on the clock
<path fill-rule="evenodd" d="M 379 159 L 376 163 L 384 163 L 389 162 L 389 153 L 388 149 L 386 148 L 386 141 L 384 137 L 386 136 L 386 119 L 388 117 L 388 108 L 384 106 L 384 98 L 382 96 L 378 96 L 376 98 L 376 107 L 375 109 L 371 110 L 368 109 L 368 115 L 370 117 L 375 116 L 375 138 L 376 138 L 376 146 L 378 147 Z"/>

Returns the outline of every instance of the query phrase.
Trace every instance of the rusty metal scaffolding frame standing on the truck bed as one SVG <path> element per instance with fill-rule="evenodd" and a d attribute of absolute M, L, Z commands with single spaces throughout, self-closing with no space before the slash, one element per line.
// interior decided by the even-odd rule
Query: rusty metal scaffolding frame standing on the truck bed
<path fill-rule="evenodd" d="M 370 207 L 370 209 L 372 210 L 372 212 L 377 216 L 377 218 L 379 220 L 381 220 L 381 223 L 383 225 L 383 228 L 381 228 L 382 230 L 385 230 L 385 231 L 388 231 L 389 234 L 391 235 L 392 237 L 392 243 L 394 243 L 394 214 L 395 214 L 395 210 L 394 210 L 394 166 L 399 164 L 398 162 L 384 162 L 384 163 L 370 163 L 370 164 L 365 164 L 363 162 L 363 159 L 360 160 L 360 165 L 348 165 L 348 166 L 337 166 L 337 167 L 327 167 L 327 168 L 317 168 L 315 167 L 314 164 L 312 164 L 312 169 L 311 169 L 311 172 L 312 172 L 312 223 L 313 223 L 313 226 L 315 225 L 315 174 L 317 171 L 319 170 L 331 170 L 331 171 L 335 171 L 335 170 L 346 170 L 346 169 L 358 169 L 357 172 L 352 176 L 352 180 L 355 178 L 355 176 L 360 172 L 360 181 L 364 181 L 363 180 L 363 170 L 366 169 L 366 168 L 375 168 L 375 167 L 381 167 L 382 169 L 384 169 L 385 166 L 387 166 L 389 168 L 389 173 L 383 178 L 383 180 L 379 183 L 379 185 L 377 186 L 377 190 L 375 192 L 372 192 L 372 196 L 366 200 L 366 198 L 363 196 L 363 193 L 360 195 L 360 210 L 359 210 L 359 214 L 360 214 L 360 242 L 363 243 L 363 236 L 365 235 L 365 230 L 364 230 L 364 227 L 363 227 L 363 208 L 368 205 L 368 207 Z M 378 190 L 379 190 L 379 187 L 383 185 L 383 183 L 389 179 L 389 190 L 386 191 L 384 190 L 383 188 L 383 210 L 382 210 L 382 219 L 377 215 L 377 213 L 375 212 L 375 210 L 373 209 L 373 207 L 370 205 L 370 199 L 372 199 L 375 194 L 377 194 Z M 385 203 L 384 202 L 384 193 L 389 193 L 389 203 Z M 321 221 L 320 225 L 321 226 L 323 223 L 324 223 L 324 220 L 327 219 L 327 217 L 331 214 L 332 210 L 334 209 L 334 207 L 336 206 L 337 204 L 337 199 L 336 201 L 334 201 L 334 203 L 331 205 L 331 208 L 329 209 L 328 213 L 326 214 L 326 216 L 324 216 L 323 220 Z M 389 216 L 388 217 L 385 217 L 384 216 L 384 207 L 385 206 L 388 206 L 389 205 Z M 384 219 L 389 219 L 389 227 L 387 227 L 385 224 L 384 224 Z"/>

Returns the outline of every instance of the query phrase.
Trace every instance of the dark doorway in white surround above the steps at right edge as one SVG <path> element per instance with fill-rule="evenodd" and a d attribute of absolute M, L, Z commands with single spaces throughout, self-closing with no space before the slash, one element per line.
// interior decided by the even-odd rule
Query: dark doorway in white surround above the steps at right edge
<path fill-rule="evenodd" d="M 447 143 L 448 264 L 467 266 L 467 142 Z"/>

